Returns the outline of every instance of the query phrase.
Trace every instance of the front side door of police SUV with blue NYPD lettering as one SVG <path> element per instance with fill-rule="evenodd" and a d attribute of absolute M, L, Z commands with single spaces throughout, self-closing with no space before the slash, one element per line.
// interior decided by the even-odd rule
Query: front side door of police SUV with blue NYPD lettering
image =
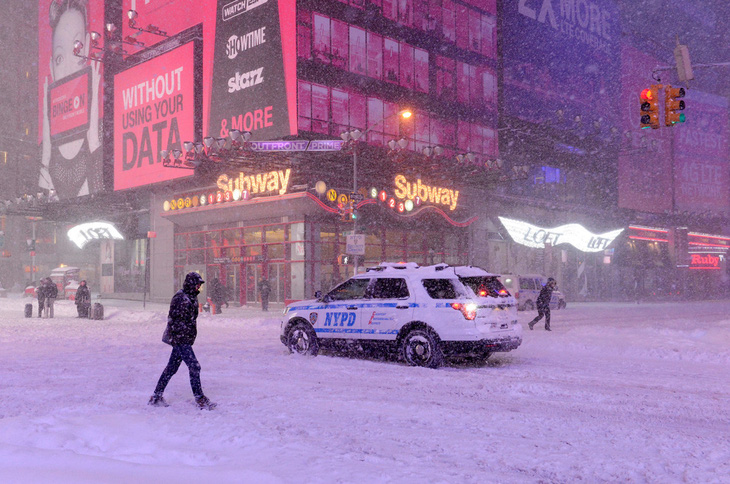
<path fill-rule="evenodd" d="M 346 339 L 359 337 L 362 327 L 361 306 L 369 283 L 369 278 L 349 279 L 322 298 L 324 304 L 318 311 L 314 324 L 317 336 Z"/>

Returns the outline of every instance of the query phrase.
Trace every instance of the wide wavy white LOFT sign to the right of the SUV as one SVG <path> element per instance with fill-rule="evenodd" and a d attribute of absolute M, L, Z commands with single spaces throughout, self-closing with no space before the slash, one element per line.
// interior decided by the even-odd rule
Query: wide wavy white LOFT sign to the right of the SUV
<path fill-rule="evenodd" d="M 499 217 L 512 240 L 518 244 L 542 249 L 545 244 L 570 244 L 582 252 L 600 252 L 608 248 L 624 229 L 594 234 L 579 224 L 567 224 L 552 229 L 544 229 L 519 220 Z"/>

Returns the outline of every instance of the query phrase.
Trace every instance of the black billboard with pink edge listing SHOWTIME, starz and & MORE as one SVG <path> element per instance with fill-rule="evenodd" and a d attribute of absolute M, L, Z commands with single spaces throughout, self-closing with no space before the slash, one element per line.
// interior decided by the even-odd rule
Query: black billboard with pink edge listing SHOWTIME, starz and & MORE
<path fill-rule="evenodd" d="M 295 0 L 218 2 L 211 136 L 297 133 L 295 9 Z"/>

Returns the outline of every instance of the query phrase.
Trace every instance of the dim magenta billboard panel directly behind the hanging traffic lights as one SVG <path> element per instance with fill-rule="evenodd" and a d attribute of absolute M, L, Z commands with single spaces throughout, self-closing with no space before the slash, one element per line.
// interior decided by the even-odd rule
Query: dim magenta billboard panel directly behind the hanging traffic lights
<path fill-rule="evenodd" d="M 620 208 L 663 213 L 672 207 L 671 136 L 669 128 L 639 127 L 639 93 L 655 81 L 651 69 L 656 58 L 633 47 L 621 49 L 620 106 L 622 142 L 618 158 Z"/>

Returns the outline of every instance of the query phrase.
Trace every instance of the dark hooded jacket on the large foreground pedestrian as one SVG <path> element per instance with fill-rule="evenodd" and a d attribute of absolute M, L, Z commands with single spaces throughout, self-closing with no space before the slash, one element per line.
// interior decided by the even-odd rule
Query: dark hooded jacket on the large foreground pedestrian
<path fill-rule="evenodd" d="M 198 284 L 203 278 L 195 272 L 185 277 L 183 288 L 172 296 L 170 312 L 167 315 L 167 328 L 162 335 L 162 341 L 172 346 L 190 345 L 195 343 L 198 335 Z"/>

